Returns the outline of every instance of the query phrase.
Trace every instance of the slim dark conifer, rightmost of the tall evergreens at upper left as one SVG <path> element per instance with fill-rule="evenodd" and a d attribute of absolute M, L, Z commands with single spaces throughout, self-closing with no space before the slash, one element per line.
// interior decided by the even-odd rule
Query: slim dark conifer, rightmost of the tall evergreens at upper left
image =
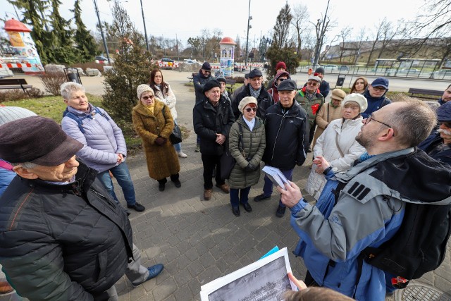
<path fill-rule="evenodd" d="M 75 26 L 77 27 L 74 35 L 74 42 L 77 44 L 79 61 L 90 61 L 92 56 L 97 54 L 97 45 L 94 41 L 94 37 L 92 37 L 86 29 L 85 23 L 82 21 L 80 0 L 75 0 L 73 9 L 70 11 L 74 14 Z"/>

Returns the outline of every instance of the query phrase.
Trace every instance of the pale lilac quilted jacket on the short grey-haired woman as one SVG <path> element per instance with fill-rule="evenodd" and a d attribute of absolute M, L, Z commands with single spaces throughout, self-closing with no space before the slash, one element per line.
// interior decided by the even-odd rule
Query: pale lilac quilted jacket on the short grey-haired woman
<path fill-rule="evenodd" d="M 89 112 L 83 112 L 68 106 L 68 111 L 83 118 L 82 133 L 78 128 L 77 121 L 65 116 L 61 121 L 61 128 L 73 139 L 83 144 L 77 156 L 82 159 L 87 166 L 96 169 L 99 173 L 118 165 L 118 155 L 127 156 L 127 145 L 125 145 L 124 135 L 121 128 L 116 125 L 113 119 L 104 109 L 98 108 L 107 118 L 96 113 L 92 104 L 89 104 Z"/>

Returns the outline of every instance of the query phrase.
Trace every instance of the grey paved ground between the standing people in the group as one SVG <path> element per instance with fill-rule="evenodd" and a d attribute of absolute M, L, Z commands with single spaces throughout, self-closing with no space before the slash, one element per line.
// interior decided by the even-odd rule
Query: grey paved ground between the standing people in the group
<path fill-rule="evenodd" d="M 184 85 L 190 73 L 163 71 L 178 99 L 178 122 L 192 130 L 194 92 Z M 83 78 L 85 83 L 85 78 Z M 88 90 L 89 92 L 89 90 Z M 249 204 L 252 212 L 241 209 L 241 216 L 231 212 L 229 196 L 214 187 L 213 196 L 203 201 L 202 161 L 194 152 L 195 134 L 183 142 L 188 155 L 180 159 L 181 188 L 173 183 L 159 192 L 156 180 L 149 178 L 144 154 L 139 152 L 127 159 L 138 202 L 146 211 L 130 215 L 135 245 L 142 251 L 142 264 L 162 263 L 163 272 L 137 288 L 121 278 L 116 283 L 119 300 L 200 300 L 201 285 L 255 262 L 272 247 L 288 247 L 290 264 L 297 278 L 304 278 L 306 268 L 302 259 L 292 255 L 297 235 L 290 226 L 290 215 L 275 216 L 278 194 L 264 202 L 253 202 L 261 193 L 263 177 L 252 187 Z M 304 187 L 310 169 L 311 154 L 304 166 L 297 166 L 293 180 Z M 115 182 L 116 194 L 125 205 L 122 192 Z M 306 196 L 308 198 L 308 196 Z M 432 285 L 451 295 L 451 244 L 443 264 L 424 275 L 420 283 Z M 418 282 L 417 282 L 418 283 Z M 395 300 L 388 297 L 386 300 Z M 397 298 L 397 300 L 400 300 Z"/>

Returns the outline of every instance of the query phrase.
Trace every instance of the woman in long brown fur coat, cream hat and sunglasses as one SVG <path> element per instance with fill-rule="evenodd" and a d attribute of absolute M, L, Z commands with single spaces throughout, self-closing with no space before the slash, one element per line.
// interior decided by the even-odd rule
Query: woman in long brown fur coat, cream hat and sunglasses
<path fill-rule="evenodd" d="M 149 176 L 158 181 L 160 191 L 164 190 L 167 177 L 180 188 L 180 164 L 169 140 L 174 128 L 171 109 L 155 97 L 149 85 L 139 85 L 137 97 L 140 102 L 132 111 L 133 127 L 142 139 Z"/>

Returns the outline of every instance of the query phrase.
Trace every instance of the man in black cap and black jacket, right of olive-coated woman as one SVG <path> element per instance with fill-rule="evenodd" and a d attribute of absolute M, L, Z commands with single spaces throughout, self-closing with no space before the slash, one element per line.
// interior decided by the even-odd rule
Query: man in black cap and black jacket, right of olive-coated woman
<path fill-rule="evenodd" d="M 279 102 L 266 111 L 266 149 L 262 161 L 277 167 L 285 178 L 292 180 L 295 166 L 304 164 L 309 145 L 309 121 L 307 113 L 295 102 L 296 82 L 284 80 L 278 86 Z M 282 135 L 280 135 L 282 133 Z M 265 176 L 263 193 L 254 197 L 255 202 L 269 199 L 273 183 Z M 285 205 L 280 202 L 276 216 L 285 214 Z"/>

